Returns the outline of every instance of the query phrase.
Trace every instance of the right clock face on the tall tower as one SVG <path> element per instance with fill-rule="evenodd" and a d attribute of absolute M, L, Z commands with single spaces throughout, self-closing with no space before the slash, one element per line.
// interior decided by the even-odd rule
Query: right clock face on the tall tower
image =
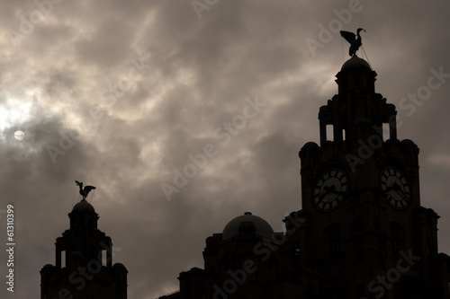
<path fill-rule="evenodd" d="M 401 171 L 393 167 L 385 168 L 380 174 L 380 187 L 386 194 L 386 201 L 391 207 L 398 210 L 410 207 L 410 183 Z"/>

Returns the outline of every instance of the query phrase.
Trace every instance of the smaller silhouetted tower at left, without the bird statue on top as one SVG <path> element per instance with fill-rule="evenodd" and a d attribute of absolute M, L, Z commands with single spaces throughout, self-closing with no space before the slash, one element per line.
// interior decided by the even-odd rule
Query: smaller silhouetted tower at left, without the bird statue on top
<path fill-rule="evenodd" d="M 83 199 L 68 216 L 70 229 L 56 240 L 56 265 L 40 270 L 40 298 L 126 299 L 128 271 L 112 266 L 112 241 L 97 229 L 94 207 Z"/>

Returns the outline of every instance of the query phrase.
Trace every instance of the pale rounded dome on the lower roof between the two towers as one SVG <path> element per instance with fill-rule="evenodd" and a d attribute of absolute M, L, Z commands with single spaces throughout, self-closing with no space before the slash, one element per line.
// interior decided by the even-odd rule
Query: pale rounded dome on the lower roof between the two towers
<path fill-rule="evenodd" d="M 261 217 L 252 215 L 250 212 L 244 213 L 232 219 L 222 232 L 222 240 L 227 240 L 243 232 L 254 232 L 260 237 L 271 238 L 274 234 L 272 226 Z"/>

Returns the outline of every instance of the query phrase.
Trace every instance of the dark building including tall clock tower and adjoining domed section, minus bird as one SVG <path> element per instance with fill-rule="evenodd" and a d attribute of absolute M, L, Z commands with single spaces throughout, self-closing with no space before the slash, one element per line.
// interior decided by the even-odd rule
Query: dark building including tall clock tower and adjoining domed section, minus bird
<path fill-rule="evenodd" d="M 320 145 L 302 147 L 302 209 L 285 233 L 246 213 L 206 239 L 204 269 L 166 299 L 449 299 L 450 259 L 420 206 L 419 148 L 397 138 L 395 106 L 351 57 L 320 107 Z M 327 126 L 332 136 L 327 136 Z"/>

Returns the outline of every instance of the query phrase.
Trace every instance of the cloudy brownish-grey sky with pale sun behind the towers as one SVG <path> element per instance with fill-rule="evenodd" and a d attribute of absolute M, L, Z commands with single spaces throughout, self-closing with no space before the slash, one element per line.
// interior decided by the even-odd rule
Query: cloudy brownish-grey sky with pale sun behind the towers
<path fill-rule="evenodd" d="M 419 145 L 421 204 L 450 252 L 448 1 L 36 2 L 0 1 L 0 213 L 14 204 L 16 230 L 15 292 L 0 294 L 40 296 L 74 180 L 97 187 L 133 299 L 177 290 L 237 215 L 281 231 L 301 208 L 298 151 L 319 142 L 349 58 L 336 32 L 358 27 L 399 138 Z"/>

